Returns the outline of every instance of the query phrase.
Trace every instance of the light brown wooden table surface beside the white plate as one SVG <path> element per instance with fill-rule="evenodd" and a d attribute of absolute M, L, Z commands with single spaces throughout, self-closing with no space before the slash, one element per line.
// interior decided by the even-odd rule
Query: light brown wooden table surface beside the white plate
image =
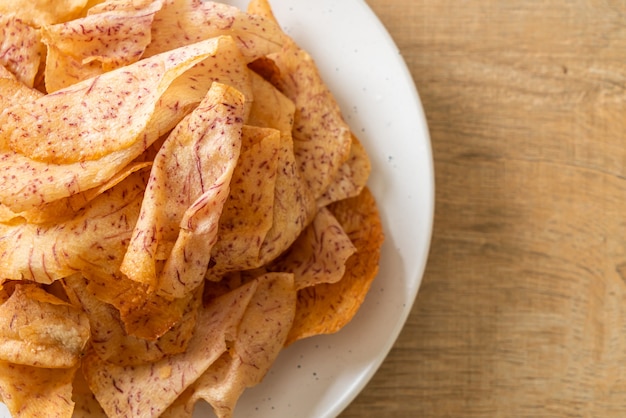
<path fill-rule="evenodd" d="M 342 417 L 626 417 L 626 2 L 368 3 L 437 200 L 408 323 Z"/>

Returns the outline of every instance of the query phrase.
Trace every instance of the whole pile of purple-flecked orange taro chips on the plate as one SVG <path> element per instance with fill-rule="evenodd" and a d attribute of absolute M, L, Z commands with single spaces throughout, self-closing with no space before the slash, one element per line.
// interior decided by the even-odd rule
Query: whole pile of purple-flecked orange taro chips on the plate
<path fill-rule="evenodd" d="M 352 319 L 383 241 L 370 161 L 267 0 L 0 0 L 0 23 L 13 416 L 228 418 Z"/>

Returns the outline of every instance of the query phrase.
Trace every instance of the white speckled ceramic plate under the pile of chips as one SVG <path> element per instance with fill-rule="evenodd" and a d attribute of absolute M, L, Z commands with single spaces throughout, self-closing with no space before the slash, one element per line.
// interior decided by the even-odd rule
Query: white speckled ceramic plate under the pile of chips
<path fill-rule="evenodd" d="M 231 0 L 245 8 L 247 0 Z M 236 417 L 334 417 L 357 396 L 395 342 L 429 250 L 434 174 L 428 128 L 406 65 L 362 0 L 271 0 L 276 17 L 317 62 L 372 160 L 369 186 L 386 241 L 380 273 L 339 333 L 299 341 L 247 390 Z M 3 405 L 1 405 L 3 407 Z M 207 416 L 206 404 L 197 416 Z M 0 416 L 9 414 L 0 411 Z"/>

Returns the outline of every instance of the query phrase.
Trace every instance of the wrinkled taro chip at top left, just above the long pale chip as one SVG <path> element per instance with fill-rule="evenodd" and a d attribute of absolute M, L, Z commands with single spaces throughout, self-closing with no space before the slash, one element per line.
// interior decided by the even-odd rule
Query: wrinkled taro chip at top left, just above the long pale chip
<path fill-rule="evenodd" d="M 152 20 L 160 8 L 157 0 L 43 27 L 48 93 L 138 61 L 150 43 Z"/>

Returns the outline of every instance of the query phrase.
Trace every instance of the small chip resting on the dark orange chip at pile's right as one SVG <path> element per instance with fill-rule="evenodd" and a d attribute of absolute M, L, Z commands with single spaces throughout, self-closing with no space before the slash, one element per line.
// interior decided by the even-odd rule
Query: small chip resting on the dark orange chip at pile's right
<path fill-rule="evenodd" d="M 339 281 L 346 270 L 346 260 L 355 252 L 354 245 L 341 224 L 326 208 L 293 245 L 268 268 L 295 275 L 296 290 L 320 283 Z"/>

